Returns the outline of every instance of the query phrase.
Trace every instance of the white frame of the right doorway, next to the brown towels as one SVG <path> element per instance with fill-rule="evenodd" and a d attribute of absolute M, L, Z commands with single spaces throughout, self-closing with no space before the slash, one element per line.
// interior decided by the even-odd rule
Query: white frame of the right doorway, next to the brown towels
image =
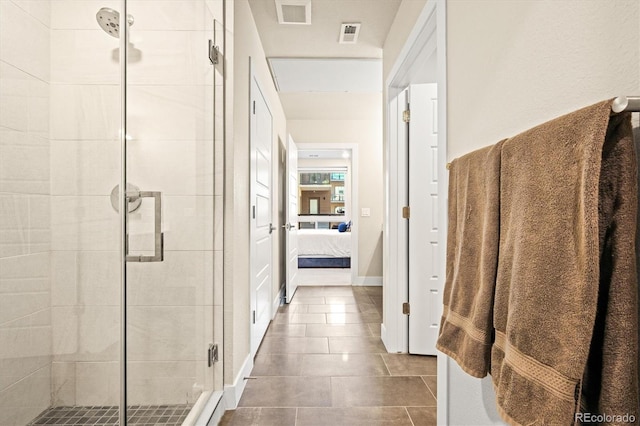
<path fill-rule="evenodd" d="M 385 147 L 385 170 L 387 175 L 385 194 L 385 231 L 384 251 L 387 267 L 384 268 L 384 323 L 382 339 L 389 352 L 407 352 L 408 322 L 402 314 L 402 303 L 407 301 L 407 261 L 391 256 L 391 249 L 407 246 L 406 232 L 402 232 L 402 207 L 397 197 L 391 195 L 406 193 L 407 179 L 401 177 L 406 151 L 398 147 L 397 125 L 392 102 L 413 80 L 412 71 L 428 59 L 437 55 L 438 84 L 438 215 L 439 232 L 439 275 L 445 277 L 446 233 L 447 233 L 447 68 L 446 68 L 446 0 L 428 1 L 414 25 L 404 47 L 400 51 L 394 66 L 385 81 L 387 120 L 387 145 Z M 396 106 L 397 109 L 397 106 Z M 392 115 L 393 114 L 393 115 Z M 395 116 L 397 117 L 397 116 Z M 392 162 L 393 161 L 393 162 Z M 393 273 L 393 275 L 390 274 Z M 438 424 L 448 424 L 448 358 L 438 356 Z"/>

